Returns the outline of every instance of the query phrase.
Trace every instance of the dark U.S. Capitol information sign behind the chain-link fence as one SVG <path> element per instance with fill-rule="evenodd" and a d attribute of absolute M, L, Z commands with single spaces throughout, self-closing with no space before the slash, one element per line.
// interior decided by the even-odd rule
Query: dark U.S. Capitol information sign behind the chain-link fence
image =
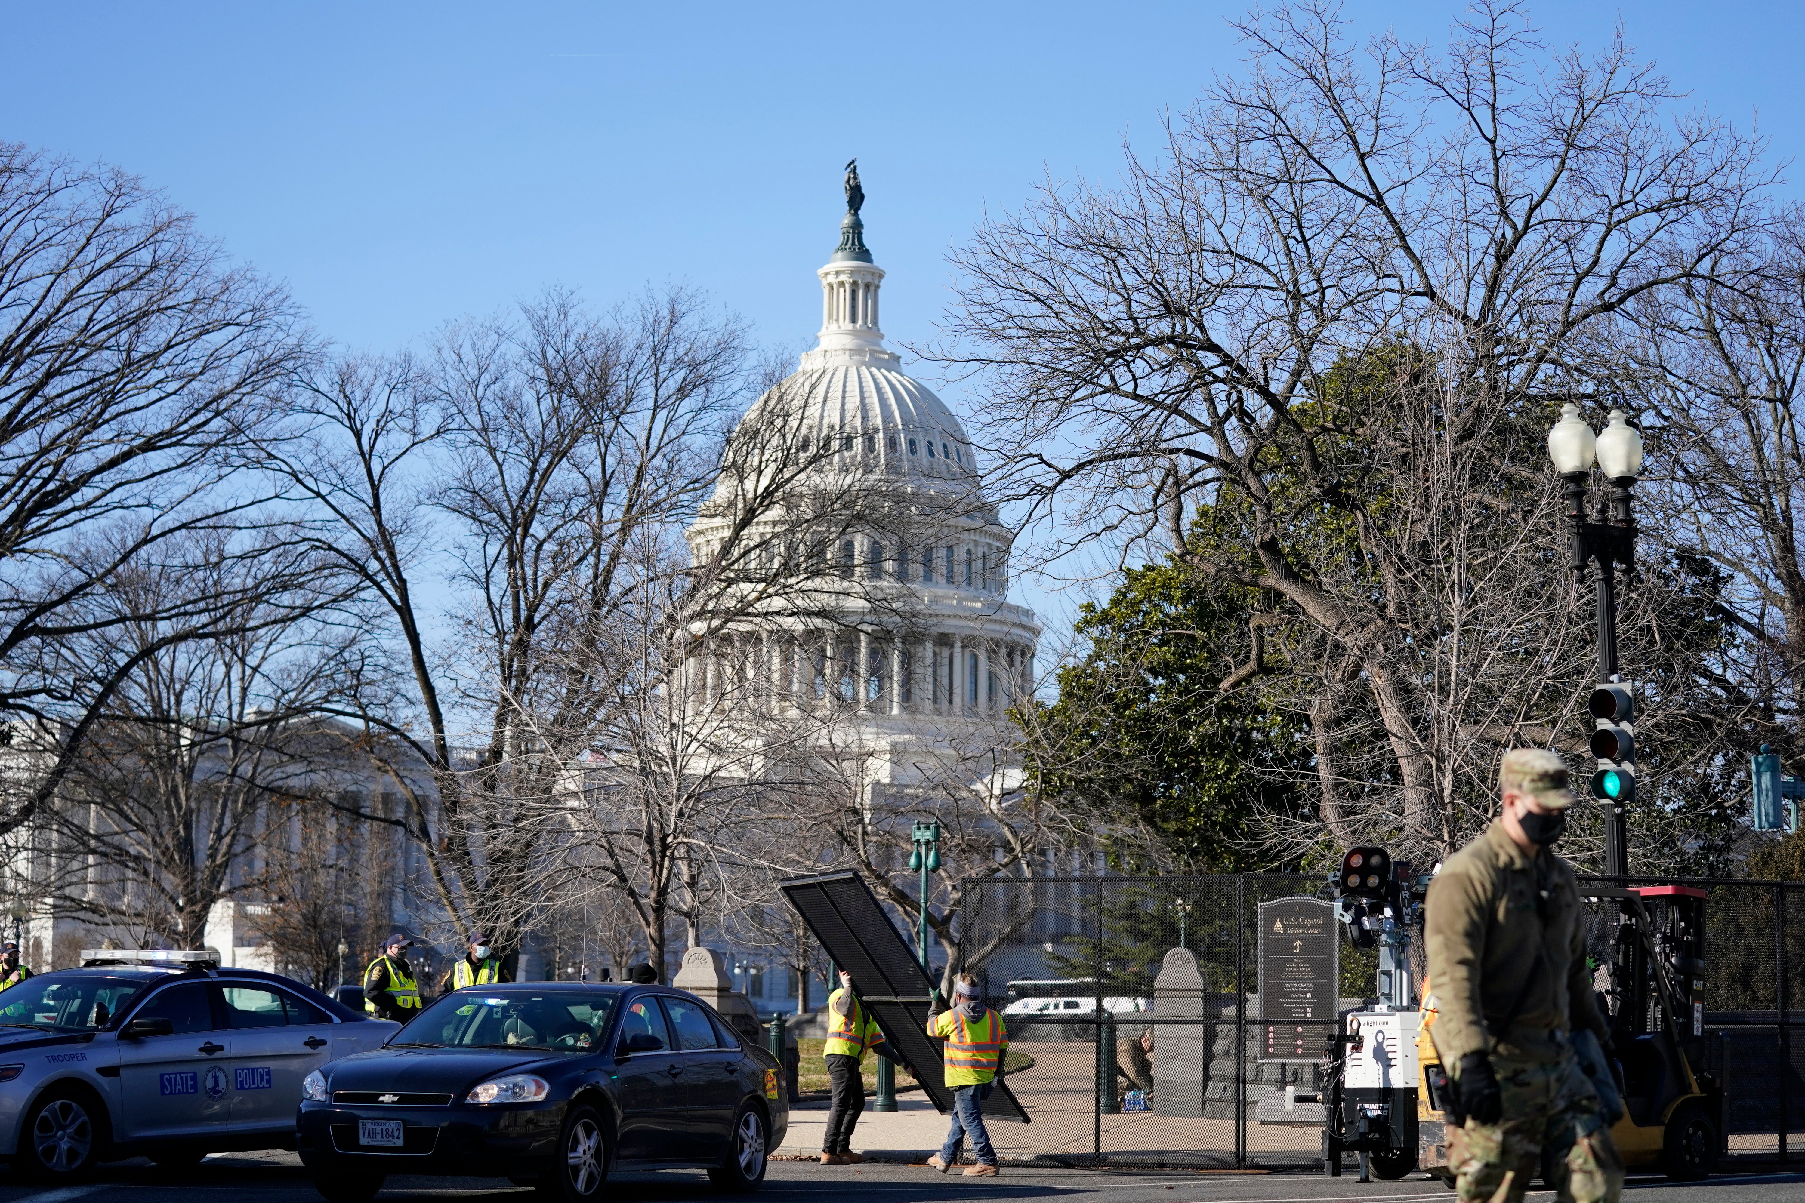
<path fill-rule="evenodd" d="M 1336 1017 L 1341 940 L 1321 898 L 1260 904 L 1260 1061 L 1321 1061 Z"/>

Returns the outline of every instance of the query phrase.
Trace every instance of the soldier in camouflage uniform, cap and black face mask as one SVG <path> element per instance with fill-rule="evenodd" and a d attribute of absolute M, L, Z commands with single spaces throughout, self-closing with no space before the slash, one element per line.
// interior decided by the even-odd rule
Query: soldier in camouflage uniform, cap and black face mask
<path fill-rule="evenodd" d="M 1590 1028 L 1608 1046 L 1579 891 L 1550 848 L 1574 804 L 1567 765 L 1516 748 L 1498 790 L 1498 819 L 1442 864 L 1424 905 L 1455 1189 L 1467 1203 L 1522 1203 L 1549 1165 L 1563 1203 L 1617 1203 L 1623 1160 L 1569 1042 Z"/>

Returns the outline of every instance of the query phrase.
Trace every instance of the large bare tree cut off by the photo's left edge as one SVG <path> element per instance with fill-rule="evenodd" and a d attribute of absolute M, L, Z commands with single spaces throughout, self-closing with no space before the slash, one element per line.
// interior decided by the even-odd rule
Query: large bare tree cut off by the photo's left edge
<path fill-rule="evenodd" d="M 0 799 L 0 831 L 56 795 L 144 658 L 231 610 L 193 592 L 87 602 L 171 539 L 262 519 L 235 453 L 307 355 L 287 296 L 139 179 L 0 142 L 0 714 L 54 738 Z M 60 655 L 126 624 L 159 644 Z"/>

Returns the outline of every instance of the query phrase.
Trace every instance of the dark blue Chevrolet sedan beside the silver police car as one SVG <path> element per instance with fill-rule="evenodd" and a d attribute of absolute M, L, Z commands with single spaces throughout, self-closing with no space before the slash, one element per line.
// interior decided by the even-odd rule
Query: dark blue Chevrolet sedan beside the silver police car
<path fill-rule="evenodd" d="M 610 1169 L 706 1169 L 756 1190 L 789 1102 L 771 1053 L 668 987 L 511 983 L 448 994 L 381 1051 L 301 1086 L 296 1147 L 327 1199 L 386 1174 L 469 1174 L 596 1199 Z"/>

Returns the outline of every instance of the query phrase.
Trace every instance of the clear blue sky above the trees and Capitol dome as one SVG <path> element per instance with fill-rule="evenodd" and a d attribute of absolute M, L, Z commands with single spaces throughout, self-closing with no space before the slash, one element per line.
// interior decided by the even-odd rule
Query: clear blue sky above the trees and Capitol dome
<path fill-rule="evenodd" d="M 1153 141 L 1162 108 L 1238 69 L 1224 14 L 1242 11 L 4 2 L 0 137 L 144 175 L 287 280 L 321 332 L 370 350 L 549 283 L 612 301 L 648 281 L 706 289 L 800 348 L 857 155 L 884 328 L 910 341 L 987 206 L 1047 173 L 1114 177 L 1125 137 Z M 1440 43 L 1457 5 L 1348 13 Z M 1776 157 L 1805 148 L 1805 5 L 1532 14 L 1587 47 L 1621 20 L 1699 103 L 1758 114 Z"/>

